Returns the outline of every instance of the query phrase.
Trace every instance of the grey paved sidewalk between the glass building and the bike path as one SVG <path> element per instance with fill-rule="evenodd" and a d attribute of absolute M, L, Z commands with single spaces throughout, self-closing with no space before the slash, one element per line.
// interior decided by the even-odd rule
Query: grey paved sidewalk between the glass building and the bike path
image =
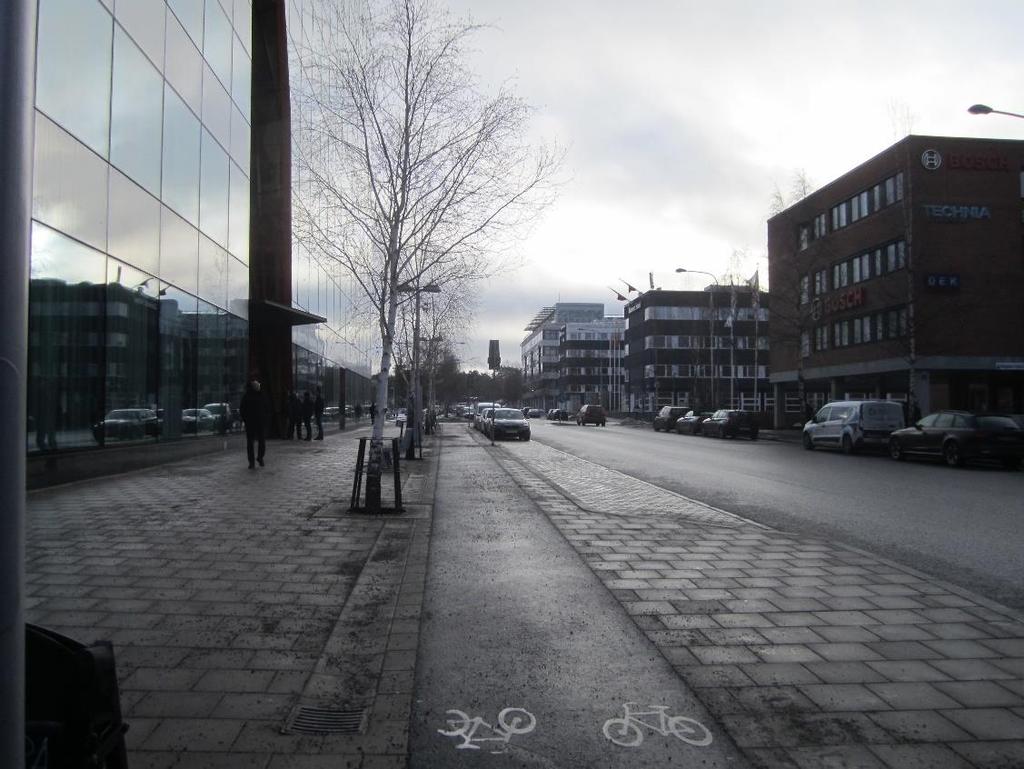
<path fill-rule="evenodd" d="M 351 515 L 358 434 L 29 494 L 27 620 L 114 642 L 132 769 L 406 765 L 432 450 L 407 513 Z M 299 707 L 362 728 L 283 731 Z"/>

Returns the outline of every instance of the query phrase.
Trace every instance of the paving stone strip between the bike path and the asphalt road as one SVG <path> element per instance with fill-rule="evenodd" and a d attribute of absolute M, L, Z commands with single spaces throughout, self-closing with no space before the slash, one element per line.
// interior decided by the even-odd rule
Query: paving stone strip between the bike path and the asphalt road
<path fill-rule="evenodd" d="M 1011 609 L 538 441 L 495 456 L 754 766 L 1024 767 Z"/>

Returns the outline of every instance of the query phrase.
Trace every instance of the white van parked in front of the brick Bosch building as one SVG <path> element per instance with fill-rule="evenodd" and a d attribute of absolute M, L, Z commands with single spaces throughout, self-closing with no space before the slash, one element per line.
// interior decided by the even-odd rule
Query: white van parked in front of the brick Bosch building
<path fill-rule="evenodd" d="M 804 448 L 830 446 L 844 454 L 881 448 L 889 444 L 890 433 L 903 426 L 903 404 L 898 400 L 836 400 L 804 425 Z"/>

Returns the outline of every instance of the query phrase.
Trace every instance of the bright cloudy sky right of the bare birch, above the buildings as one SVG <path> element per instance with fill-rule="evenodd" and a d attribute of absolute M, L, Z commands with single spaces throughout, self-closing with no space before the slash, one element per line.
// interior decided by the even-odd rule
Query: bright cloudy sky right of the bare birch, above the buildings
<path fill-rule="evenodd" d="M 1022 120 L 967 113 L 1024 112 L 1020 0 L 439 1 L 489 25 L 482 86 L 511 80 L 567 149 L 522 266 L 480 287 L 465 368 L 486 367 L 488 339 L 518 365 L 523 327 L 557 301 L 621 314 L 620 279 L 766 276 L 772 191 L 798 169 L 822 186 L 907 133 L 1024 139 Z"/>

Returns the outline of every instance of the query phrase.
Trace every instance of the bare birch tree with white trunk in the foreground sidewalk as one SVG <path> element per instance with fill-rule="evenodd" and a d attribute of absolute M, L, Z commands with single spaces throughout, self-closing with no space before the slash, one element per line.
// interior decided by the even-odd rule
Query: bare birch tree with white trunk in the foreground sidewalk
<path fill-rule="evenodd" d="M 483 95 L 466 68 L 478 29 L 432 0 L 323 0 L 305 30 L 298 237 L 342 264 L 374 309 L 381 405 L 399 304 L 427 284 L 464 287 L 487 274 L 493 255 L 551 199 L 558 158 L 524 141 L 530 109 L 506 87 Z M 381 409 L 371 507 L 383 428 Z"/>

